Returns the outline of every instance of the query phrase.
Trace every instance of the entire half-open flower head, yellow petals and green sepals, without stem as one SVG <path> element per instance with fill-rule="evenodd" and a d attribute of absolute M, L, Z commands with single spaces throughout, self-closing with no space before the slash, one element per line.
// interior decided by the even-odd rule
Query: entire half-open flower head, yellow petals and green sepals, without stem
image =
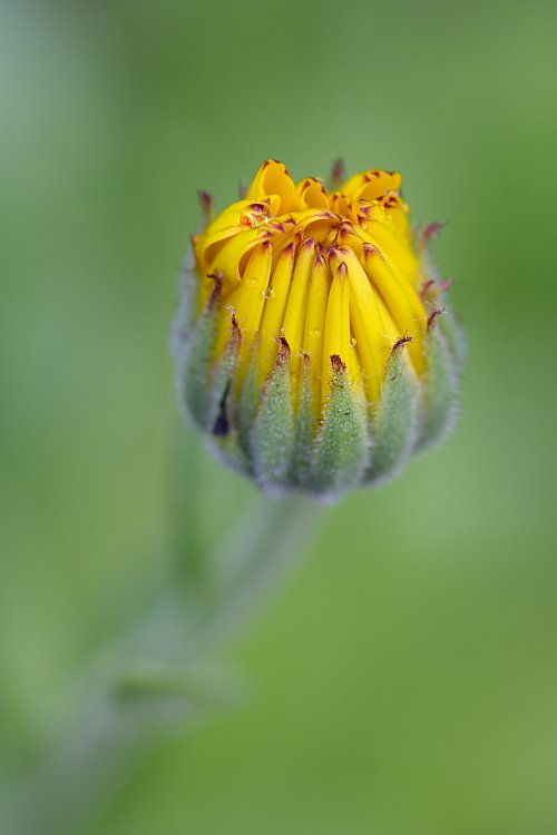
<path fill-rule="evenodd" d="M 280 493 L 336 498 L 395 474 L 456 412 L 462 342 L 400 174 L 328 190 L 267 160 L 193 238 L 180 394 L 219 456 Z"/>

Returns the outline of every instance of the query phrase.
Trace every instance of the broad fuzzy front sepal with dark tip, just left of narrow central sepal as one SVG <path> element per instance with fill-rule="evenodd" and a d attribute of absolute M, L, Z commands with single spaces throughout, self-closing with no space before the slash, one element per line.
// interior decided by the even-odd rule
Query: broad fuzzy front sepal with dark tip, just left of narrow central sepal
<path fill-rule="evenodd" d="M 290 347 L 283 340 L 251 432 L 255 478 L 263 489 L 280 493 L 287 487 L 294 443 Z"/>

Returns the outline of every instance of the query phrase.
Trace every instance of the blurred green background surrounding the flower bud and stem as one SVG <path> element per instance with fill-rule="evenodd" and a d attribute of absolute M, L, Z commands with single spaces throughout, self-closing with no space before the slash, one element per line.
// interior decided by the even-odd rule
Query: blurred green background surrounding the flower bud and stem
<path fill-rule="evenodd" d="M 0 16 L 2 773 L 164 571 L 195 189 L 224 205 L 266 157 L 300 178 L 342 155 L 400 169 L 413 219 L 449 222 L 458 431 L 326 514 L 225 650 L 253 698 L 178 728 L 90 832 L 557 832 L 556 4 Z M 187 481 L 215 539 L 254 493 L 208 454 Z"/>

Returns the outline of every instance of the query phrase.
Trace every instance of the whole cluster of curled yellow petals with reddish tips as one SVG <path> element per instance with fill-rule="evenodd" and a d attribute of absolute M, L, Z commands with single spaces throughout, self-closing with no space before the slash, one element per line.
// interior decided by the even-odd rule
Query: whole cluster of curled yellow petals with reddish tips
<path fill-rule="evenodd" d="M 270 159 L 245 199 L 194 238 L 199 305 L 218 281 L 226 311 L 215 352 L 226 347 L 233 311 L 242 336 L 241 377 L 255 351 L 260 377 L 267 380 L 281 338 L 291 352 L 293 396 L 306 355 L 317 404 L 328 396 L 332 355 L 342 358 L 354 390 L 364 391 L 371 404 L 401 338 L 409 342 L 414 372 L 426 372 L 427 312 L 419 295 L 424 267 L 401 181 L 398 173 L 371 169 L 329 193 L 319 177 L 295 184 L 286 166 Z"/>

